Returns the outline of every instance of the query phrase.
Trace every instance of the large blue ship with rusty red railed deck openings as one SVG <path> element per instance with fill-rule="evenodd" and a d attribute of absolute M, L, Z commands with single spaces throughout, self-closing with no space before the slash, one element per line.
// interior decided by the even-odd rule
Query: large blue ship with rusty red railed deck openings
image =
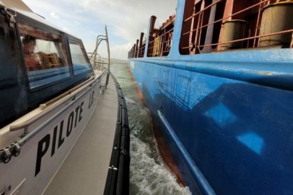
<path fill-rule="evenodd" d="M 179 0 L 129 51 L 193 194 L 293 194 L 292 10 L 292 0 Z"/>

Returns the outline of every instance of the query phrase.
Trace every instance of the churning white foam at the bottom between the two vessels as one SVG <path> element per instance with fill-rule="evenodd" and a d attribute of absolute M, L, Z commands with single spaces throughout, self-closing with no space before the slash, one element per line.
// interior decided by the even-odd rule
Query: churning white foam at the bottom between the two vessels
<path fill-rule="evenodd" d="M 155 161 L 149 146 L 130 135 L 130 182 L 136 192 L 131 194 L 191 194 L 188 187 L 181 187 L 162 160 Z M 138 190 L 137 190 L 138 189 Z"/>

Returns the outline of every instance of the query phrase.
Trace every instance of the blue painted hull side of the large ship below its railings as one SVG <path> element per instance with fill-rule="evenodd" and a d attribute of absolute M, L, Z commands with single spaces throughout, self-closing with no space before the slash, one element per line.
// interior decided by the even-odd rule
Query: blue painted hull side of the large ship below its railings
<path fill-rule="evenodd" d="M 130 59 L 193 194 L 293 193 L 293 52 Z"/>

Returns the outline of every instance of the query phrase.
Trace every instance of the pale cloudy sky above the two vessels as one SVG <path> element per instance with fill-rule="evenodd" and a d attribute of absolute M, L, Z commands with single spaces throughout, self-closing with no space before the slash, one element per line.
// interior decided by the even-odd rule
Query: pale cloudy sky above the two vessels
<path fill-rule="evenodd" d="M 48 22 L 81 38 L 87 52 L 107 25 L 111 58 L 127 59 L 128 51 L 147 31 L 151 15 L 160 26 L 175 12 L 176 0 L 22 0 Z M 98 53 L 106 56 L 105 44 Z"/>

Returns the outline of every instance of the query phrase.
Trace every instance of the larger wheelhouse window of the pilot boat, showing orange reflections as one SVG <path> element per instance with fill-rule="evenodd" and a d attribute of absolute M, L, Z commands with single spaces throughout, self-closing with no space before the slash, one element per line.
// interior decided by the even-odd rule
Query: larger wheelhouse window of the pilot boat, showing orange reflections
<path fill-rule="evenodd" d="M 70 77 L 61 35 L 18 24 L 29 87 L 37 88 Z"/>

